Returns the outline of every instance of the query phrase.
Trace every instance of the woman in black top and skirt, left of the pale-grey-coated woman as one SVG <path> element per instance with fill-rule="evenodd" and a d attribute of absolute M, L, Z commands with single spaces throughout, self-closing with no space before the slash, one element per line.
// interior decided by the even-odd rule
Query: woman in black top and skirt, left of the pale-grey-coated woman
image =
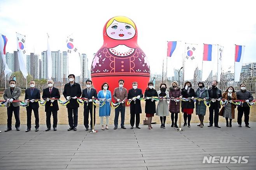
<path fill-rule="evenodd" d="M 154 83 L 149 82 L 147 83 L 148 87 L 145 90 L 144 97 L 146 98 L 146 104 L 145 104 L 145 113 L 146 117 L 148 119 L 148 129 L 152 129 L 151 122 L 152 117 L 156 113 L 156 100 L 150 99 L 150 97 L 158 97 L 158 94 L 156 90 L 153 88 Z"/>

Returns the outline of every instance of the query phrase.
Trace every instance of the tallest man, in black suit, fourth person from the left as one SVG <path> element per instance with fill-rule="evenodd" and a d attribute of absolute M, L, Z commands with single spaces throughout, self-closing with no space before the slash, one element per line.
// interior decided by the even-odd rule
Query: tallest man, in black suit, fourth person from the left
<path fill-rule="evenodd" d="M 77 97 L 82 94 L 80 84 L 75 83 L 75 75 L 68 75 L 69 83 L 65 84 L 63 95 L 67 100 L 70 100 L 67 104 L 68 109 L 68 124 L 70 130 L 77 130 L 77 119 L 78 119 L 78 108 L 79 103 L 77 102 Z M 74 115 L 74 118 L 73 118 Z"/>

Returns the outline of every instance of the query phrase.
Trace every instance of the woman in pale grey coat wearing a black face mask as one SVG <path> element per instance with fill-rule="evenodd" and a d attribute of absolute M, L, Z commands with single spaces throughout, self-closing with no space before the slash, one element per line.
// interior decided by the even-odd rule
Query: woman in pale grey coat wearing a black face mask
<path fill-rule="evenodd" d="M 156 115 L 160 116 L 161 126 L 160 128 L 165 129 L 166 116 L 169 116 L 169 92 L 167 92 L 167 85 L 165 83 L 160 84 L 160 90 L 157 92 L 158 97 L 168 98 L 160 99 L 156 107 Z"/>

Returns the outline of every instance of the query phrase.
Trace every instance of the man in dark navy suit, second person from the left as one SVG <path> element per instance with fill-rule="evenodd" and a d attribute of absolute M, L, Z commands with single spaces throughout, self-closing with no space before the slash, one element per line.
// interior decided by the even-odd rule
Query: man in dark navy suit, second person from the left
<path fill-rule="evenodd" d="M 39 103 L 35 102 L 36 99 L 40 99 L 40 90 L 35 88 L 35 82 L 31 80 L 29 82 L 30 88 L 25 90 L 25 101 L 29 102 L 28 106 L 26 107 L 27 110 L 27 130 L 26 132 L 31 130 L 31 114 L 32 110 L 35 115 L 35 132 L 39 129 Z"/>

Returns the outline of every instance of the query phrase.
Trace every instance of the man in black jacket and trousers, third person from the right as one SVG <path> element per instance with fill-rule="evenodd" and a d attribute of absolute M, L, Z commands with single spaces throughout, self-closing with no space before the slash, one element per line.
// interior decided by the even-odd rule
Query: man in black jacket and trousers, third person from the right
<path fill-rule="evenodd" d="M 222 99 L 222 92 L 221 89 L 217 87 L 218 82 L 214 80 L 212 82 L 212 87 L 209 88 L 209 99 L 217 99 L 210 101 L 209 107 L 209 125 L 208 127 L 212 127 L 213 123 L 215 127 L 220 128 L 219 126 L 219 109 L 221 108 L 221 104 L 219 101 Z M 213 116 L 214 113 L 214 116 Z"/>

